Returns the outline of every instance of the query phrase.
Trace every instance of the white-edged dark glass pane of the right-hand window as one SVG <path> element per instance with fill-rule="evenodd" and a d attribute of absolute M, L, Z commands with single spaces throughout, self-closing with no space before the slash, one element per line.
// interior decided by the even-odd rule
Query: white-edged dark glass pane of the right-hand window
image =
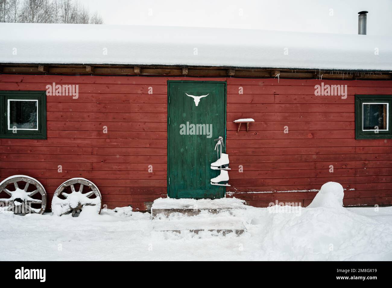
<path fill-rule="evenodd" d="M 363 103 L 363 130 L 387 130 L 387 103 Z"/>

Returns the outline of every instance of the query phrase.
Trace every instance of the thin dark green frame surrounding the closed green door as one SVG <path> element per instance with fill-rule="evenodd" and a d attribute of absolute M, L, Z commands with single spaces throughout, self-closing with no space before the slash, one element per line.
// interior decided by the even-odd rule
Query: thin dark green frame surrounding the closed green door
<path fill-rule="evenodd" d="M 166 187 L 167 187 L 167 196 L 170 197 L 170 190 L 169 190 L 169 104 L 170 104 L 170 83 L 221 83 L 225 85 L 225 93 L 224 93 L 224 98 L 225 98 L 225 132 L 224 132 L 224 143 L 225 143 L 225 147 L 224 147 L 224 152 L 226 153 L 226 133 L 227 133 L 227 129 L 226 129 L 226 122 L 227 122 L 227 81 L 198 81 L 198 80 L 167 80 L 167 148 L 166 148 L 166 154 L 167 154 L 167 170 L 166 170 Z M 224 193 L 226 194 L 226 187 L 224 186 Z"/>

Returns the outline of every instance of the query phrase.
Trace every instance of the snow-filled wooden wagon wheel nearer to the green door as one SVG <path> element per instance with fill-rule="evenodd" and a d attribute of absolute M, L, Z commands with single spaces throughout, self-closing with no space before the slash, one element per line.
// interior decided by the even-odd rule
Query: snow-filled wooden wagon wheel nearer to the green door
<path fill-rule="evenodd" d="M 76 187 L 75 187 L 76 186 Z M 58 216 L 71 213 L 78 216 L 83 206 L 95 206 L 101 213 L 102 197 L 96 185 L 84 178 L 72 178 L 65 181 L 54 192 L 52 212 Z"/>

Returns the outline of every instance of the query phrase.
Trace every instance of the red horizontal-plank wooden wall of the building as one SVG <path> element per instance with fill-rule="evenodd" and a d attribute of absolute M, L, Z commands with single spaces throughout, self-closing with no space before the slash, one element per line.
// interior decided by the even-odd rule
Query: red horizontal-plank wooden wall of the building
<path fill-rule="evenodd" d="M 227 81 L 230 196 L 254 206 L 275 200 L 306 206 L 316 192 L 249 192 L 312 190 L 336 181 L 347 188 L 345 205 L 392 204 L 392 141 L 354 138 L 354 94 L 392 94 L 391 81 L 323 80 L 348 86 L 341 99 L 314 96 L 319 80 L 1 74 L 0 90 L 78 84 L 79 98 L 47 96 L 46 140 L 0 139 L 0 178 L 37 178 L 51 199 L 62 182 L 83 177 L 100 188 L 109 208 L 145 210 L 145 202 L 166 196 L 167 80 Z M 237 134 L 238 118 L 256 122 Z"/>

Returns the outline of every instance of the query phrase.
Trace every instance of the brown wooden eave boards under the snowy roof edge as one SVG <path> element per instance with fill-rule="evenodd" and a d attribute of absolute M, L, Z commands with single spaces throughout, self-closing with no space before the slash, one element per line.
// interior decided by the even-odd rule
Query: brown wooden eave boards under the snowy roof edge
<path fill-rule="evenodd" d="M 71 65 L 71 64 L 9 64 L 0 63 L 2 73 L 20 74 L 96 74 L 124 76 L 190 76 L 238 78 L 316 78 L 316 79 L 367 79 L 391 80 L 392 71 L 349 71 L 314 69 L 250 69 L 240 67 L 183 67 L 162 65 Z"/>

